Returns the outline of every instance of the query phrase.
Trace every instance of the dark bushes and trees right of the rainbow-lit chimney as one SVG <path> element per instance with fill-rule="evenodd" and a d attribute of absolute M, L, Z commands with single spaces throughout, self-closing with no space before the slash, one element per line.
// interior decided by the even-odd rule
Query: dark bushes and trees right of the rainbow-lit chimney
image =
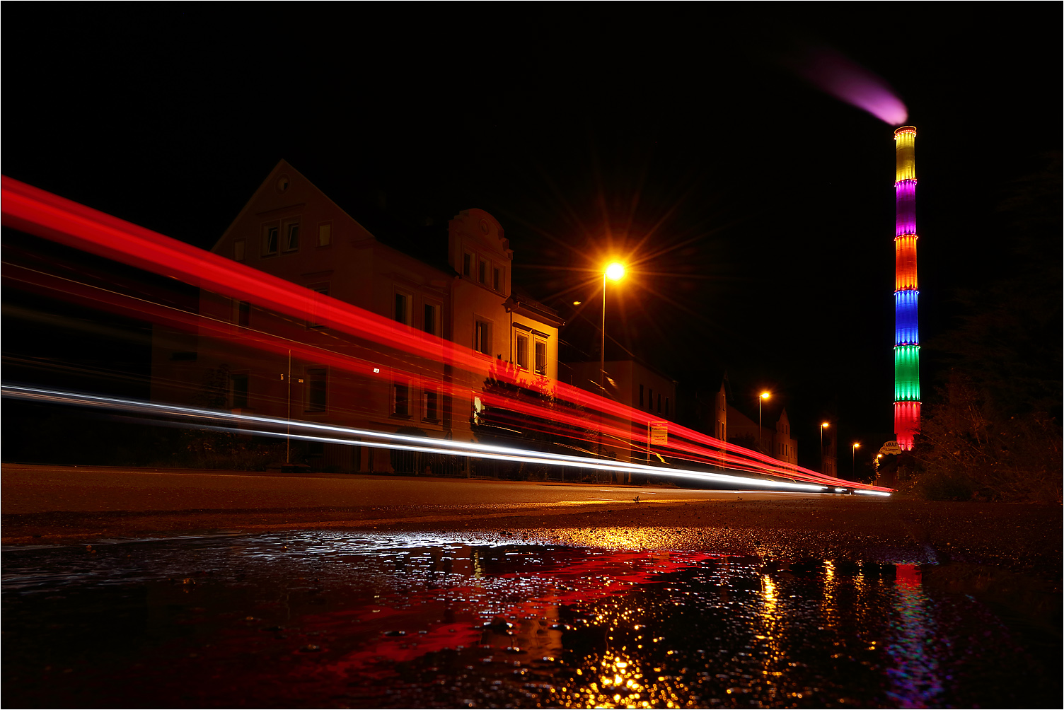
<path fill-rule="evenodd" d="M 952 367 L 899 462 L 925 496 L 1061 500 L 1061 162 L 1047 157 L 1000 203 L 1002 275 L 959 293 L 966 315 L 933 343 Z"/>

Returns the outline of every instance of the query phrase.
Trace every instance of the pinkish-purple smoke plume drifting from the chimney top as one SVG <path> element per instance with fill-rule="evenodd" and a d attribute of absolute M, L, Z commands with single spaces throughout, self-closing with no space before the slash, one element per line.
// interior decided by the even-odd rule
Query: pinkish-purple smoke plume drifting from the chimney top
<path fill-rule="evenodd" d="M 891 125 L 909 119 L 909 109 L 891 86 L 849 57 L 827 47 L 809 47 L 792 61 L 795 71 L 827 94 L 867 111 Z"/>

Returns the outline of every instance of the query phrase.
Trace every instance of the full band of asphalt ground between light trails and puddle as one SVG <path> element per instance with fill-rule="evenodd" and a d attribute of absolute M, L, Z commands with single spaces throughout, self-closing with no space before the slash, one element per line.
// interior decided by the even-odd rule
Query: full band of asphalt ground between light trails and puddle
<path fill-rule="evenodd" d="M 767 559 L 965 562 L 1061 589 L 1054 505 L 21 464 L 3 466 L 2 492 L 5 545 L 311 528 L 461 530 Z"/>

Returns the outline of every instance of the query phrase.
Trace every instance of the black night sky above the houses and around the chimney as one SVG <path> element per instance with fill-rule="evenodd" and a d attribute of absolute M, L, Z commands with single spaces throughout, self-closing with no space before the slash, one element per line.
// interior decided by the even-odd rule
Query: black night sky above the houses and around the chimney
<path fill-rule="evenodd" d="M 810 443 L 826 417 L 847 437 L 892 429 L 894 126 L 780 57 L 834 48 L 909 106 L 924 341 L 957 288 L 993 274 L 1001 190 L 1061 147 L 1058 3 L 27 4 L 4 19 L 4 174 L 201 247 L 282 157 L 410 224 L 482 207 L 548 304 L 594 303 L 594 270 L 625 256 L 611 335 L 688 387 L 726 367 L 748 411 L 778 391 Z M 935 361 L 926 349 L 925 391 Z"/>

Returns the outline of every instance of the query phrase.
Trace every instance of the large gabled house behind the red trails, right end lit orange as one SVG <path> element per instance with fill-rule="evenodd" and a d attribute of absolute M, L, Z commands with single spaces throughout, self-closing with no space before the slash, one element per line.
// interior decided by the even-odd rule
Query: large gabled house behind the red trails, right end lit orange
<path fill-rule="evenodd" d="M 212 251 L 309 289 L 321 312 L 332 299 L 352 304 L 389 319 L 414 342 L 444 339 L 468 348 L 477 365 L 456 368 L 446 358 L 326 327 L 313 312 L 297 321 L 202 291 L 201 320 L 213 334 L 218 323 L 227 324 L 232 337 L 156 328 L 152 398 L 196 402 L 207 373 L 223 373 L 231 410 L 471 441 L 478 392 L 500 364 L 541 389 L 552 387 L 562 321 L 514 294 L 513 251 L 492 215 L 464 210 L 450 220 L 446 236 L 420 241 L 382 236 L 282 160 Z M 250 338 L 242 334 L 260 333 L 318 349 L 322 361 L 243 344 Z M 333 354 L 352 367 L 337 366 Z M 394 456 L 384 450 L 319 449 L 312 455 L 333 470 L 394 468 Z"/>

